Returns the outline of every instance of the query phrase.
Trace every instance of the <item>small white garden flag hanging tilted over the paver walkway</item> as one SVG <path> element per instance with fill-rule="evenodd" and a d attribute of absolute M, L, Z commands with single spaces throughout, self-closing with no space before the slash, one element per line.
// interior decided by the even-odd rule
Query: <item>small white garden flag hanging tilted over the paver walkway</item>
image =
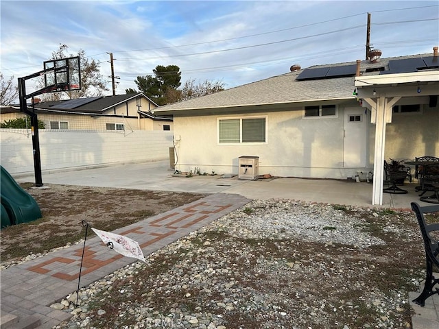
<path fill-rule="evenodd" d="M 127 257 L 137 258 L 146 263 L 139 243 L 126 236 L 91 228 L 110 249 Z"/>

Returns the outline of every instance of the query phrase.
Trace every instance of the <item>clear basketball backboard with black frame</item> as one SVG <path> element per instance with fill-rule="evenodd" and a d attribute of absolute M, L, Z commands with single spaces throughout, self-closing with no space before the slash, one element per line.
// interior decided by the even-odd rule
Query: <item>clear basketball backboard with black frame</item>
<path fill-rule="evenodd" d="M 60 90 L 80 90 L 81 70 L 79 56 L 62 58 L 58 60 L 46 60 L 44 69 L 54 69 L 45 73 L 44 82 L 46 92 Z M 54 87 L 53 90 L 50 87 Z"/>

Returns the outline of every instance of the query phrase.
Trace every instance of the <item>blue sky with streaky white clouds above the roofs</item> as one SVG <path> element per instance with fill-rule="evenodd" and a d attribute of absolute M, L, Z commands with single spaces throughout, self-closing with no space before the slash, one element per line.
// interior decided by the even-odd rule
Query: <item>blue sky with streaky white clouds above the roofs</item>
<path fill-rule="evenodd" d="M 84 49 L 104 77 L 113 53 L 117 94 L 157 65 L 178 65 L 182 82 L 231 88 L 287 73 L 292 64 L 364 60 L 368 12 L 370 43 L 382 57 L 439 45 L 438 1 L 1 0 L 0 10 L 5 79 L 42 70 L 63 43 L 71 54 Z"/>

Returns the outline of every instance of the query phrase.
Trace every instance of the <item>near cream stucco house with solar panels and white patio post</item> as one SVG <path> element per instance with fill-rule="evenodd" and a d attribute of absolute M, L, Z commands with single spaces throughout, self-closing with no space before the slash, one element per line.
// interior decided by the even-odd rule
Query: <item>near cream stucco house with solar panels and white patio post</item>
<path fill-rule="evenodd" d="M 407 72 L 420 80 L 400 84 Z M 368 82 L 382 77 L 382 85 Z M 154 111 L 174 117 L 176 170 L 239 175 L 248 169 L 240 162 L 246 156 L 259 175 L 366 180 L 379 173 L 373 204 L 380 204 L 375 181 L 383 160 L 439 155 L 438 80 L 435 47 L 414 56 L 293 65 L 283 75 Z M 387 127 L 377 100 L 387 104 Z"/>

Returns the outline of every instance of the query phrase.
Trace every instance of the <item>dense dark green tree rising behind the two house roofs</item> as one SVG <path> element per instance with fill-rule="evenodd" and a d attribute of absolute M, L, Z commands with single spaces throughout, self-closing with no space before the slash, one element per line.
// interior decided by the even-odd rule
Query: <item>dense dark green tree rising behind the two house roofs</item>
<path fill-rule="evenodd" d="M 152 99 L 158 106 L 169 103 L 167 95 L 172 95 L 181 85 L 180 68 L 176 65 L 158 65 L 154 70 L 154 76 L 138 76 L 134 82 L 141 93 Z M 126 89 L 126 93 L 131 93 L 132 89 Z"/>

